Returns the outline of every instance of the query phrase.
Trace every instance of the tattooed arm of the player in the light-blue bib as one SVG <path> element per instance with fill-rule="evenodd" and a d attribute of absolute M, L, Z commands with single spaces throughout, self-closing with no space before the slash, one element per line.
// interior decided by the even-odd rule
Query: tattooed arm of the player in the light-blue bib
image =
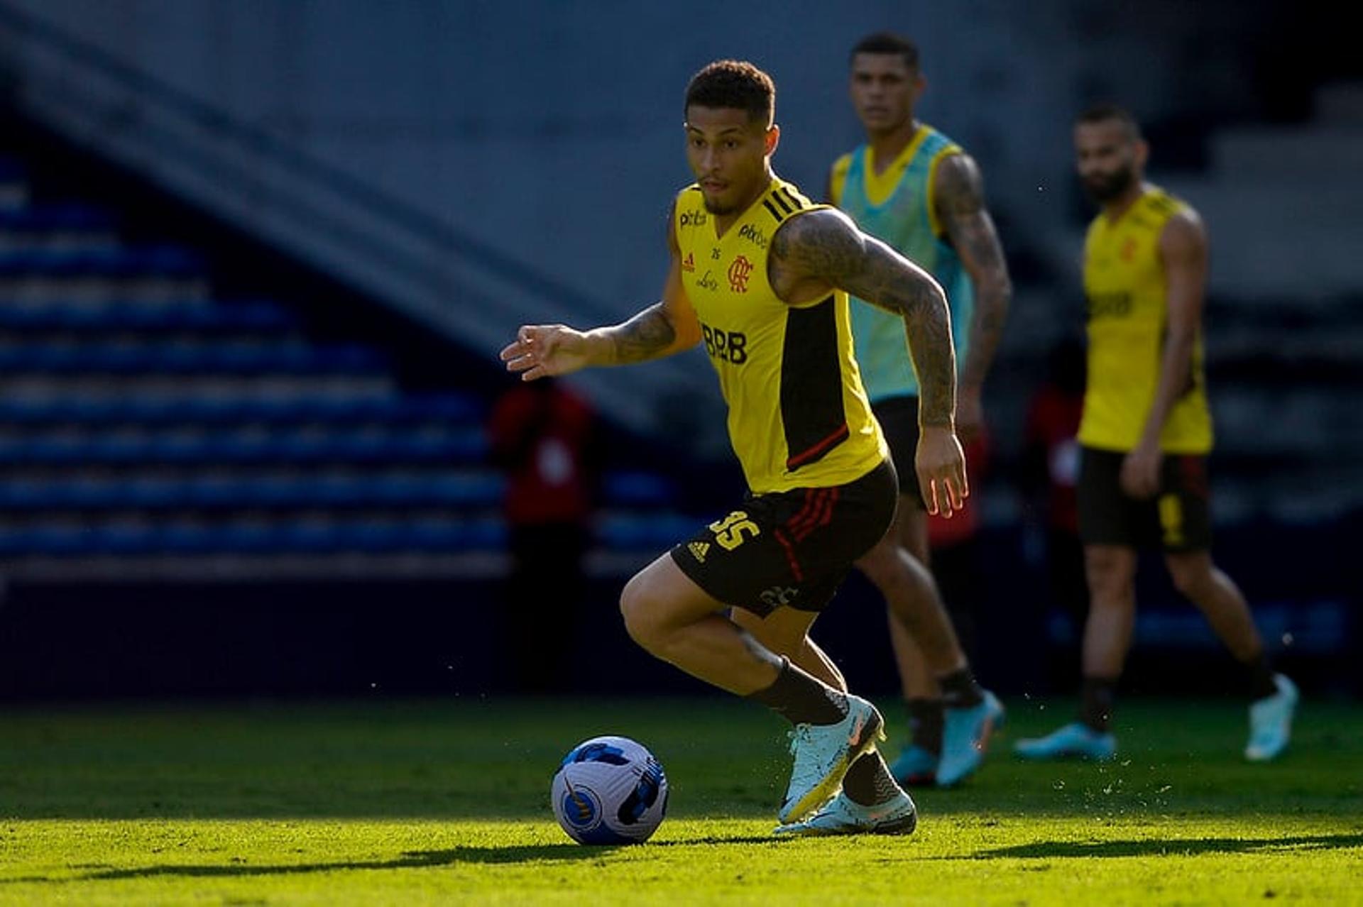
<path fill-rule="evenodd" d="M 932 189 L 938 218 L 975 285 L 975 317 L 957 400 L 961 436 L 970 437 L 984 419 L 980 391 L 1003 334 L 1013 286 L 994 219 L 984 207 L 984 180 L 975 161 L 965 154 L 945 158 Z"/>

